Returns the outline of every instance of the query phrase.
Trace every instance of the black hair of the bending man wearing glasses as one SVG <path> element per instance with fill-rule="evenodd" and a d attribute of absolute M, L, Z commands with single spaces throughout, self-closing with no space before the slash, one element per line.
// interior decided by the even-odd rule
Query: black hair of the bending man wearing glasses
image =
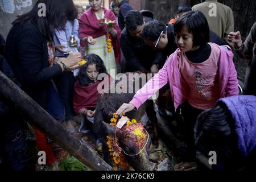
<path fill-rule="evenodd" d="M 153 20 L 147 22 L 146 25 L 143 27 L 142 37 L 144 39 L 155 42 L 156 40 L 158 40 L 162 31 L 163 34 L 166 34 L 166 26 L 158 20 Z"/>

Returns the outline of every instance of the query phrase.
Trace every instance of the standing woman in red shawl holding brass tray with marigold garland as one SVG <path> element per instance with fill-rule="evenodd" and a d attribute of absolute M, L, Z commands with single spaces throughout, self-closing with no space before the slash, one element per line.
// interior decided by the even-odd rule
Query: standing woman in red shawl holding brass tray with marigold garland
<path fill-rule="evenodd" d="M 114 76 L 116 61 L 120 63 L 121 60 L 119 46 L 121 30 L 117 23 L 108 27 L 99 25 L 103 18 L 116 22 L 114 13 L 101 7 L 102 0 L 89 0 L 89 4 L 91 8 L 79 19 L 81 46 L 86 46 L 86 53 L 95 53 L 100 56 L 107 72 Z M 111 45 L 110 43 L 107 44 L 108 39 L 111 39 Z M 110 69 L 113 71 L 110 72 Z"/>

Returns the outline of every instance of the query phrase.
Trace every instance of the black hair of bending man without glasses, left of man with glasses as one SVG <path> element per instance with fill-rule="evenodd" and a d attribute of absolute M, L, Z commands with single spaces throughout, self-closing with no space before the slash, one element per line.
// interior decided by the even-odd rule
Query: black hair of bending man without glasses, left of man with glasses
<path fill-rule="evenodd" d="M 138 26 L 144 22 L 141 12 L 137 10 L 130 10 L 125 16 L 125 27 L 129 31 L 134 31 Z"/>

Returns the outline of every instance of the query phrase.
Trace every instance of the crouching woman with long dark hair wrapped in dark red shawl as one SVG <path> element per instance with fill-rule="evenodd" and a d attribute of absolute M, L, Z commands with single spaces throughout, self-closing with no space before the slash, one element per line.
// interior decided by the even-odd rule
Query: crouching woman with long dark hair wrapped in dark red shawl
<path fill-rule="evenodd" d="M 98 90 L 98 85 L 102 81 L 98 81 L 98 75 L 106 73 L 103 61 L 98 55 L 90 54 L 85 56 L 87 63 L 80 68 L 77 81 L 75 83 L 73 105 L 77 114 L 85 115 L 88 121 L 93 122 L 94 110 L 96 102 L 101 96 L 102 89 Z M 104 85 L 108 85 L 111 77 L 106 73 Z M 82 125 L 80 127 L 80 130 Z"/>

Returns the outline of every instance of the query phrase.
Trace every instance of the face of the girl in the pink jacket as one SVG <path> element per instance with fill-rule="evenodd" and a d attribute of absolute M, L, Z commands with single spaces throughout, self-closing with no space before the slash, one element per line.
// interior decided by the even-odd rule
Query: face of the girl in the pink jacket
<path fill-rule="evenodd" d="M 188 27 L 185 25 L 176 33 L 176 43 L 181 52 L 195 51 L 199 48 L 199 46 L 193 47 L 193 34 L 188 32 Z"/>

